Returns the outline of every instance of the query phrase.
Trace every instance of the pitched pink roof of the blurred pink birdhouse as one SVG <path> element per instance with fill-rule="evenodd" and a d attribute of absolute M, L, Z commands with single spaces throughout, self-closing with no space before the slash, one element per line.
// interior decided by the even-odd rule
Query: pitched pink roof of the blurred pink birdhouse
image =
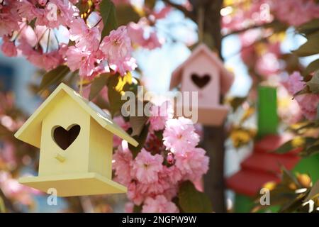
<path fill-rule="evenodd" d="M 229 72 L 225 69 L 223 62 L 220 60 L 218 55 L 215 52 L 211 51 L 206 45 L 200 44 L 198 45 L 189 58 L 186 59 L 176 70 L 172 73 L 172 79 L 170 84 L 170 89 L 177 87 L 181 82 L 181 77 L 183 74 L 183 70 L 190 62 L 196 59 L 198 55 L 203 54 L 205 55 L 208 60 L 211 60 L 212 65 L 216 65 L 220 69 L 220 92 L 225 94 L 230 89 L 231 85 L 233 84 L 234 75 L 233 73 Z"/>

